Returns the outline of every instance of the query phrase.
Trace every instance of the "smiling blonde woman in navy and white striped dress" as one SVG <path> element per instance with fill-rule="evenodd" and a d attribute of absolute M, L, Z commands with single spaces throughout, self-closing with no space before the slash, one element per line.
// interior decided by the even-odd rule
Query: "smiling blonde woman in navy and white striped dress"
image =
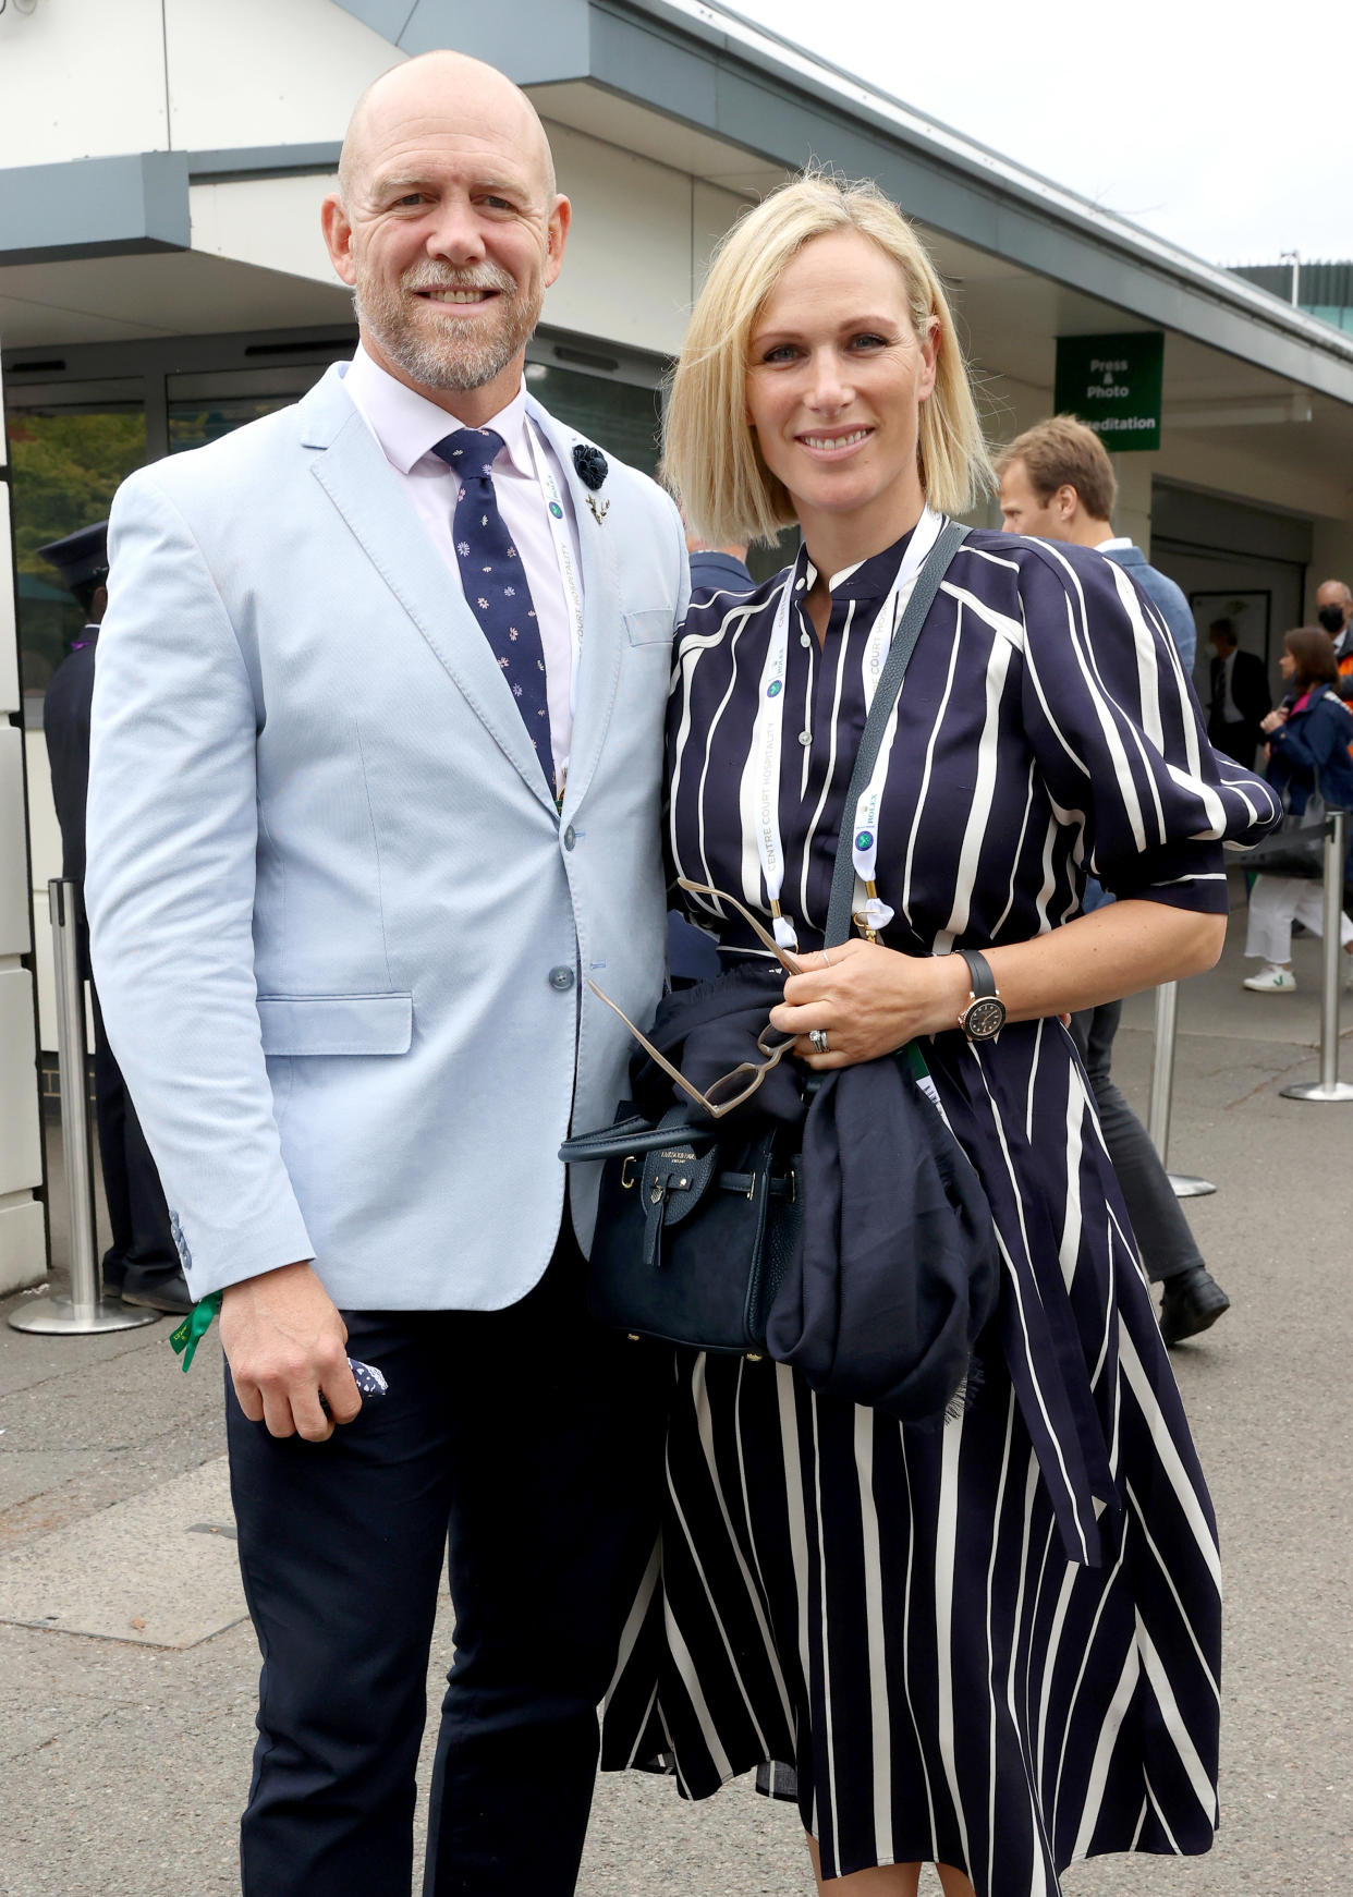
<path fill-rule="evenodd" d="M 869 681 L 943 514 L 991 484 L 934 267 L 871 186 L 786 186 L 725 241 L 672 391 L 668 470 L 714 544 L 795 563 L 696 601 L 668 723 L 670 848 L 793 947 L 808 1068 L 920 1038 L 977 1167 L 1002 1303 L 962 1413 L 816 1398 L 683 1354 L 662 1540 L 605 1713 L 611 1768 L 691 1796 L 757 1768 L 820 1886 L 1032 1897 L 1097 1851 L 1216 1823 L 1213 1512 L 1093 1102 L 1059 1015 L 1214 962 L 1218 780 L 1169 637 L 1095 552 L 977 531 L 924 622 L 858 825 L 877 941 L 820 952 Z M 778 766 L 776 766 L 778 757 Z M 763 799 L 757 785 L 778 785 Z M 1080 914 L 1087 869 L 1120 897 Z M 860 890 L 863 905 L 865 892 Z M 727 912 L 725 912 L 727 911 Z M 693 903 L 725 958 L 757 952 Z M 1006 1026 L 968 1040 L 977 950 Z"/>

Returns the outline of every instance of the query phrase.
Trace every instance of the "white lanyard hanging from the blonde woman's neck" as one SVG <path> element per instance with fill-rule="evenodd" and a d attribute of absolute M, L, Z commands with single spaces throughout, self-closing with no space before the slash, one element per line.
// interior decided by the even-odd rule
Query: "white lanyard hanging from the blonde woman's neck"
<path fill-rule="evenodd" d="M 888 649 L 892 647 L 898 622 L 901 620 L 901 615 L 907 609 L 907 599 L 911 599 L 911 590 L 917 584 L 917 573 L 920 571 L 926 554 L 936 544 L 941 525 L 943 516 L 936 514 L 928 506 L 907 541 L 907 550 L 901 556 L 898 577 L 888 588 L 888 598 L 882 601 L 882 607 L 869 628 L 863 651 L 865 715 L 873 704 L 873 694 L 879 689 L 879 675 L 882 673 L 888 658 Z M 784 840 L 780 837 L 780 744 L 793 592 L 795 575 L 791 567 L 786 575 L 780 601 L 776 605 L 776 617 L 770 628 L 770 645 L 767 647 L 765 664 L 761 668 L 757 717 L 751 727 L 757 856 L 761 857 L 761 875 L 765 878 L 767 899 L 770 903 L 774 939 L 782 948 L 789 950 L 799 947 L 799 935 L 789 916 L 786 916 L 780 909 L 780 893 L 784 890 Z M 888 753 L 892 751 L 896 730 L 898 706 L 892 708 L 888 732 L 879 751 L 879 763 L 875 764 L 873 776 L 856 806 L 852 854 L 856 878 L 863 884 L 863 905 L 858 911 L 858 920 L 871 941 L 879 930 L 892 922 L 892 909 L 879 901 L 875 869 L 879 859 L 879 804 L 882 802 L 882 787 L 888 776 Z"/>

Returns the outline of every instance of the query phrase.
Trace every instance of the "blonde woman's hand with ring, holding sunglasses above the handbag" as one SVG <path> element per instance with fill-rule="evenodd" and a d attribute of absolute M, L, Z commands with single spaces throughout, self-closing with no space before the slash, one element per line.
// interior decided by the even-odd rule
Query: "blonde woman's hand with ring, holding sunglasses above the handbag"
<path fill-rule="evenodd" d="M 795 1036 L 795 1055 L 820 1074 L 903 1047 L 918 1034 L 958 1026 L 968 1000 L 962 956 L 911 956 L 852 937 L 839 948 L 801 954 L 770 1026 Z M 822 1055 L 808 1040 L 827 1036 Z"/>

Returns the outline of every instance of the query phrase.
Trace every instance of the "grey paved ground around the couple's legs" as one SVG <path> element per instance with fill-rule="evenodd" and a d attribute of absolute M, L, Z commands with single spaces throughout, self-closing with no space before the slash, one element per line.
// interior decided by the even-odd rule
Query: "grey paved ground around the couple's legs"
<path fill-rule="evenodd" d="M 1190 1218 L 1235 1301 L 1175 1353 L 1224 1533 L 1224 1829 L 1192 1863 L 1076 1867 L 1068 1897 L 1344 1891 L 1353 1869 L 1353 1106 L 1277 1096 L 1317 1072 L 1317 945 L 1296 945 L 1302 992 L 1260 998 L 1239 990 L 1233 933 L 1182 996 L 1171 1148 L 1178 1170 L 1218 1184 Z M 1118 1043 L 1137 1104 L 1150 1019 L 1131 1004 Z M 1344 1066 L 1353 1079 L 1349 1045 Z M 184 1377 L 167 1335 L 167 1322 L 70 1341 L 0 1326 L 4 1897 L 237 1889 L 258 1656 L 235 1618 L 216 1347 Z M 15 1624 L 38 1611 L 57 1620 Z M 440 1667 L 450 1635 L 444 1603 Z M 666 1783 L 602 1783 L 583 1897 L 808 1889 L 791 1814 L 746 1785 L 691 1808 Z"/>

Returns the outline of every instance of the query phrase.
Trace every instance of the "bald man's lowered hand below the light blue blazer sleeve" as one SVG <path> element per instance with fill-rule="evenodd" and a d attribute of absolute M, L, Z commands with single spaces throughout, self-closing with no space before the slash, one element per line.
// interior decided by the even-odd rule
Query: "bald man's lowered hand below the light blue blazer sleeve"
<path fill-rule="evenodd" d="M 220 1341 L 239 1408 L 271 1436 L 324 1442 L 362 1408 L 343 1349 L 347 1326 L 307 1263 L 232 1284 L 220 1305 Z"/>

